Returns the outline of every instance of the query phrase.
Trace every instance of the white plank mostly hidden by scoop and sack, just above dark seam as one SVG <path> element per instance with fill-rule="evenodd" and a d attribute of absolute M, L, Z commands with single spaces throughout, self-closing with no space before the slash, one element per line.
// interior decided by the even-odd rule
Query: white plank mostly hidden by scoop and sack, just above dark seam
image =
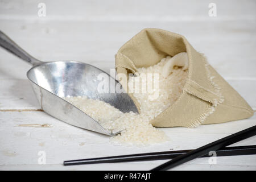
<path fill-rule="evenodd" d="M 97 62 L 98 68 L 109 72 L 110 64 Z M 105 67 L 104 67 L 105 66 Z M 256 80 L 228 80 L 229 84 L 241 94 L 253 109 L 256 110 Z M 30 82 L 26 80 L 2 79 L 0 80 L 0 111 L 1 110 L 38 110 L 41 109 Z"/>

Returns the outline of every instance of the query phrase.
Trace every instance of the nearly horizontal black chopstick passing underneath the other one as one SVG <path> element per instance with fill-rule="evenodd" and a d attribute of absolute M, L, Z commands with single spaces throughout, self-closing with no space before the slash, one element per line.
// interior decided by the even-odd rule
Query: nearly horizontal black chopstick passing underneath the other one
<path fill-rule="evenodd" d="M 117 163 L 117 162 L 134 162 L 144 160 L 164 160 L 173 159 L 179 155 L 186 154 L 191 150 L 165 151 L 165 152 L 150 152 L 144 154 L 119 155 L 105 158 L 79 159 L 64 161 L 64 166 L 79 165 L 79 164 L 96 164 L 96 163 Z M 225 147 L 216 151 L 216 156 L 233 156 L 233 155 L 253 155 L 256 154 L 256 145 L 254 146 L 238 146 Z M 209 155 L 201 156 L 201 158 L 209 157 Z"/>

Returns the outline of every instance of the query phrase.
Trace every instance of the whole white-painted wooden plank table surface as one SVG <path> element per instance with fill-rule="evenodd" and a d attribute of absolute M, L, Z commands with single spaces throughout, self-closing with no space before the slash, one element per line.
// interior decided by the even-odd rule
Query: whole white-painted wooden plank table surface
<path fill-rule="evenodd" d="M 38 3 L 46 3 L 46 17 Z M 76 2 L 76 3 L 75 3 Z M 40 60 L 78 60 L 109 72 L 114 54 L 145 27 L 184 35 L 209 63 L 256 109 L 255 1 L 0 1 L 0 29 Z M 109 137 L 70 126 L 40 110 L 26 78 L 30 65 L 0 49 L 0 170 L 147 170 L 165 161 L 64 167 L 63 160 L 197 148 L 256 124 L 241 121 L 162 129 L 170 142 L 149 147 L 114 146 Z M 48 123 L 52 127 L 20 127 Z M 237 145 L 256 144 L 256 137 Z M 46 164 L 39 164 L 39 151 Z M 255 170 L 256 156 L 193 160 L 176 170 Z"/>

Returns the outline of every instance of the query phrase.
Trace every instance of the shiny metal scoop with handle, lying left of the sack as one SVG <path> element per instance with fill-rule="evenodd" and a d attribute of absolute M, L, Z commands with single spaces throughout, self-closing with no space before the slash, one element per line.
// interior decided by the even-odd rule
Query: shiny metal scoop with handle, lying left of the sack
<path fill-rule="evenodd" d="M 97 79 L 97 76 L 105 72 L 93 65 L 77 61 L 39 61 L 1 31 L 0 46 L 32 64 L 33 67 L 27 72 L 27 77 L 32 84 L 40 106 L 46 113 L 61 121 L 105 135 L 112 136 L 120 133 L 120 131 L 117 133 L 109 132 L 89 115 L 61 98 L 67 96 L 87 96 L 105 101 L 123 113 L 129 111 L 138 113 L 133 100 L 124 90 L 121 93 L 98 92 L 98 84 L 101 81 Z M 109 78 L 109 88 L 113 86 L 122 89 L 118 81 L 107 73 L 105 75 Z"/>

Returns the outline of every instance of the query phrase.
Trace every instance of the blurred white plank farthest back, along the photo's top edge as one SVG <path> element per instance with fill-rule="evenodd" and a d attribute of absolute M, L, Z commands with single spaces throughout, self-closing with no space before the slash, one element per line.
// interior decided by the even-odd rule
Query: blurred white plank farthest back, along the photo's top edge
<path fill-rule="evenodd" d="M 38 4 L 42 1 L 20 0 L 1 1 L 0 18 L 8 19 L 39 19 Z M 105 21 L 182 21 L 209 20 L 208 1 L 170 1 L 152 0 L 142 1 L 82 1 L 75 3 L 44 0 L 46 4 L 46 19 L 53 20 L 105 20 Z M 221 1 L 215 0 L 217 5 L 216 19 L 245 19 L 255 16 L 255 1 Z M 254 17 L 255 18 L 255 17 Z"/>

